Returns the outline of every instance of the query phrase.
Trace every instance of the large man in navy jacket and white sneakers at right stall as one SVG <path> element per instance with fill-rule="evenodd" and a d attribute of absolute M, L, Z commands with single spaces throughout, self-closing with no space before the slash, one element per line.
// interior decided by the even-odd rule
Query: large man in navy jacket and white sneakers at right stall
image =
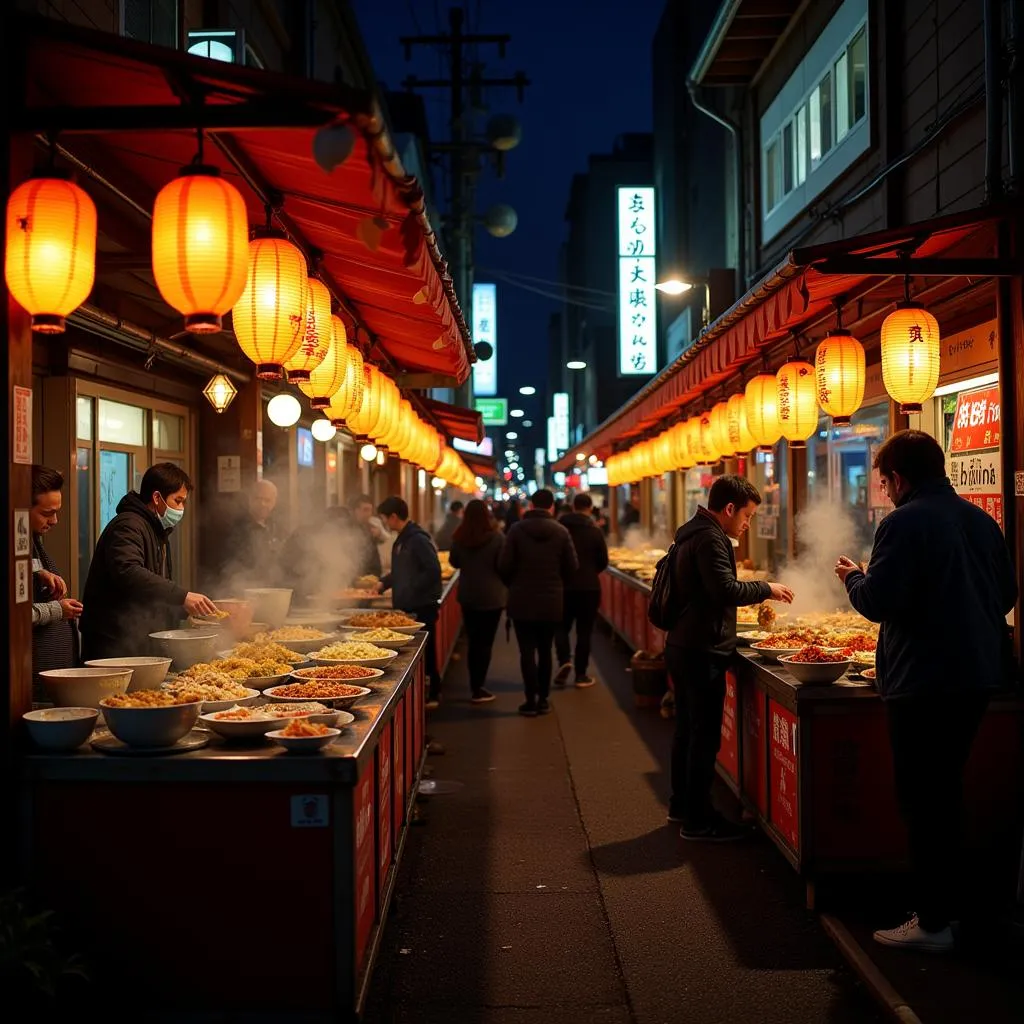
<path fill-rule="evenodd" d="M 962 909 L 964 772 L 990 695 L 1012 678 L 1007 615 L 1017 581 L 1001 530 L 953 490 L 933 437 L 894 434 L 873 468 L 895 508 L 874 535 L 867 571 L 843 556 L 836 574 L 850 604 L 882 624 L 878 687 L 916 900 L 916 913 L 874 939 L 942 952 Z M 943 643 L 950 623 L 956 636 Z"/>

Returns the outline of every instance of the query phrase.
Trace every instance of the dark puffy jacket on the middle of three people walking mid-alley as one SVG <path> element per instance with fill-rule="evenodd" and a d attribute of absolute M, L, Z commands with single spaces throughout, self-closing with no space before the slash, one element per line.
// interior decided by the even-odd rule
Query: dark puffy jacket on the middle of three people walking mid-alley
<path fill-rule="evenodd" d="M 560 623 L 565 585 L 579 564 L 569 531 L 547 512 L 530 509 L 509 527 L 498 559 L 509 587 L 509 618 Z"/>

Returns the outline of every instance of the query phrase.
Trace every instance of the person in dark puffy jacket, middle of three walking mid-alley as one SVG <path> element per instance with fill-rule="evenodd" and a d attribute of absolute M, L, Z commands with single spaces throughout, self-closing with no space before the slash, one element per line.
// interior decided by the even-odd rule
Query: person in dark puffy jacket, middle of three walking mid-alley
<path fill-rule="evenodd" d="M 519 644 L 526 693 L 519 714 L 532 718 L 551 710 L 551 646 L 562 621 L 565 584 L 579 563 L 568 530 L 552 517 L 555 496 L 537 490 L 529 504 L 509 526 L 498 568 L 509 587 L 508 616 Z"/>

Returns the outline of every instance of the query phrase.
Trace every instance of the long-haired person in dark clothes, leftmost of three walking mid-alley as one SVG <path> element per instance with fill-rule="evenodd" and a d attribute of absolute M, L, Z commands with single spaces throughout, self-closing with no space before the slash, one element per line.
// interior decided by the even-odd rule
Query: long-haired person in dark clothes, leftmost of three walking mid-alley
<path fill-rule="evenodd" d="M 490 510 L 481 501 L 471 501 L 452 537 L 449 556 L 459 569 L 459 604 L 469 641 L 469 685 L 472 703 L 487 703 L 494 693 L 484 687 L 490 668 L 490 651 L 508 591 L 498 572 L 505 538 Z"/>

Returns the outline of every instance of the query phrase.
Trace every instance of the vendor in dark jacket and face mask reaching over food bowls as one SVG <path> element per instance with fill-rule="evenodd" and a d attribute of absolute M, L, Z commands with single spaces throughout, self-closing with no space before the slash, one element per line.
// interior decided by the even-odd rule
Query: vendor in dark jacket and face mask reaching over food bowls
<path fill-rule="evenodd" d="M 185 615 L 216 611 L 171 577 L 170 531 L 185 514 L 191 480 L 170 462 L 151 466 L 139 493 L 129 492 L 96 544 L 82 603 L 84 659 L 148 654 L 150 634 Z"/>

